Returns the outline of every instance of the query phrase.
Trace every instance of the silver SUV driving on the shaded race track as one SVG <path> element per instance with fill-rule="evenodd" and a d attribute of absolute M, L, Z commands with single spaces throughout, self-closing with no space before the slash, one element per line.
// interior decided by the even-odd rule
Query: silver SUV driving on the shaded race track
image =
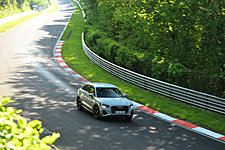
<path fill-rule="evenodd" d="M 114 85 L 87 83 L 78 89 L 77 109 L 87 109 L 93 113 L 95 119 L 119 116 L 131 120 L 134 106 L 126 96 L 127 94 L 122 94 Z"/>

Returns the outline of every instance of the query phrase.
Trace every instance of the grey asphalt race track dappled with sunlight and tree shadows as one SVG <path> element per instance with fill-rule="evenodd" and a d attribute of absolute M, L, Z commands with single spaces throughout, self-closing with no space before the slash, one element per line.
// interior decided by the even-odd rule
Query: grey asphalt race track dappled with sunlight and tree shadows
<path fill-rule="evenodd" d="M 81 82 L 53 59 L 54 46 L 74 12 L 69 0 L 0 34 L 0 95 L 23 115 L 39 119 L 61 137 L 60 150 L 224 150 L 225 144 L 136 111 L 130 122 L 95 120 L 74 103 Z"/>

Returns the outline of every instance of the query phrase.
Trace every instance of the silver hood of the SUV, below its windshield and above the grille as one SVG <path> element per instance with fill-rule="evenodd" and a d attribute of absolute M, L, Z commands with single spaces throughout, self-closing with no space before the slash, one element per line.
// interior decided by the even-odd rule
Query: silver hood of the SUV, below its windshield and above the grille
<path fill-rule="evenodd" d="M 127 98 L 96 98 L 101 104 L 106 104 L 109 106 L 129 106 L 132 104 Z"/>

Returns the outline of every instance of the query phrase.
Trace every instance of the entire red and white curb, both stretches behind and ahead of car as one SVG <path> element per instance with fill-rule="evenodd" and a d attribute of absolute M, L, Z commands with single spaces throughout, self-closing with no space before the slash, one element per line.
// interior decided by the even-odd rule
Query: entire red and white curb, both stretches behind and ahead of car
<path fill-rule="evenodd" d="M 76 73 L 75 71 L 73 71 L 65 62 L 64 60 L 62 59 L 62 55 L 61 55 L 61 49 L 62 49 L 62 45 L 65 41 L 59 41 L 57 44 L 56 44 L 56 47 L 54 49 L 54 58 L 58 61 L 59 65 L 67 72 L 69 73 L 70 75 L 72 75 L 73 77 L 75 77 L 76 79 L 78 79 L 79 81 L 81 81 L 82 83 L 88 83 L 90 81 L 86 80 L 84 77 L 80 76 L 78 73 Z M 132 101 L 133 104 L 134 104 L 134 107 L 136 109 L 139 109 L 149 115 L 152 115 L 152 116 L 155 116 L 159 119 L 162 119 L 162 120 L 165 120 L 167 122 L 170 122 L 170 123 L 173 123 L 173 124 L 176 124 L 178 126 L 181 126 L 183 128 L 186 128 L 188 130 L 191 130 L 193 132 L 196 132 L 196 133 L 199 133 L 199 134 L 202 134 L 204 136 L 207 136 L 207 137 L 210 137 L 214 140 L 217 140 L 219 142 L 222 142 L 225 144 L 225 136 L 222 135 L 222 134 L 219 134 L 219 133 L 215 133 L 213 131 L 210 131 L 210 130 L 207 130 L 205 128 L 202 128 L 202 127 L 199 127 L 199 126 L 196 126 L 194 124 L 191 124 L 191 123 L 188 123 L 186 121 L 183 121 L 183 120 L 179 120 L 179 119 L 176 119 L 176 118 L 173 118 L 171 116 L 168 116 L 166 114 L 163 114 L 163 113 L 160 113 L 156 110 L 153 110 L 151 108 L 148 108 L 142 104 L 139 104 L 137 102 L 134 102 Z"/>

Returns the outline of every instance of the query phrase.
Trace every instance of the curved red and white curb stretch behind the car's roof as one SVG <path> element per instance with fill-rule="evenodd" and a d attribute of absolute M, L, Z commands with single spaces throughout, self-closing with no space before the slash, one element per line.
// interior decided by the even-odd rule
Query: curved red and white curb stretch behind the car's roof
<path fill-rule="evenodd" d="M 61 50 L 62 50 L 62 46 L 64 44 L 65 41 L 59 41 L 54 49 L 54 58 L 55 60 L 57 60 L 57 62 L 59 63 L 59 66 L 61 66 L 67 73 L 69 73 L 70 75 L 72 75 L 74 78 L 76 78 L 77 80 L 81 81 L 82 83 L 88 83 L 89 81 L 86 80 L 84 77 L 80 76 L 78 73 L 76 73 L 75 71 L 73 71 L 73 69 L 71 69 L 66 63 L 65 61 L 62 59 L 62 54 L 61 54 Z"/>

